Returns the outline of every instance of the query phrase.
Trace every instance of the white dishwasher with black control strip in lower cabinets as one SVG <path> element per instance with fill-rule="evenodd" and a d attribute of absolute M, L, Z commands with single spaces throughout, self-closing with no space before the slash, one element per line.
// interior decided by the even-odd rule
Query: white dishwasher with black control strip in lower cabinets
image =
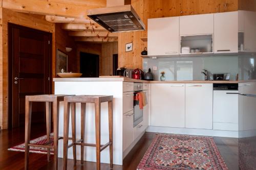
<path fill-rule="evenodd" d="M 214 83 L 213 129 L 238 131 L 238 83 Z"/>

